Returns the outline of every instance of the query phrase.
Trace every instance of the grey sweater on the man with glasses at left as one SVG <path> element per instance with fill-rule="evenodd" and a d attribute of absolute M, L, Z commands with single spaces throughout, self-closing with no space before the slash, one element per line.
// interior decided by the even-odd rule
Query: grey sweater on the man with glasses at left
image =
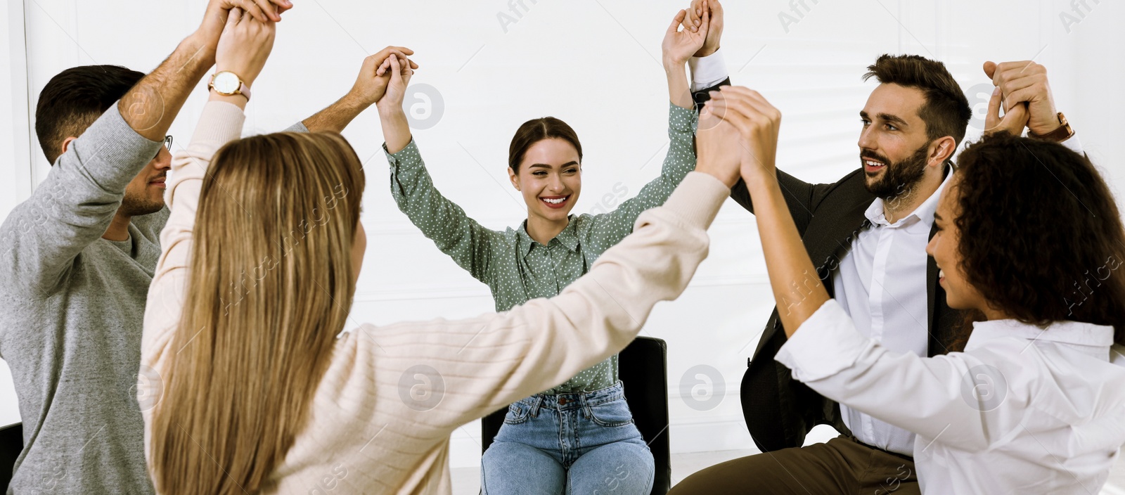
<path fill-rule="evenodd" d="M 307 132 L 300 124 L 287 130 Z M 101 238 L 161 143 L 114 105 L 0 226 L 0 358 L 24 422 L 8 493 L 153 492 L 136 382 L 144 305 L 168 208 Z"/>

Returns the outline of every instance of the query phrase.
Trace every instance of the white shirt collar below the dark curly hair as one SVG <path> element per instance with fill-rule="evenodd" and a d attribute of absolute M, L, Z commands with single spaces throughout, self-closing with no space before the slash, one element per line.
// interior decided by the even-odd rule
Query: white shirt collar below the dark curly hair
<path fill-rule="evenodd" d="M 997 320 L 991 322 L 974 322 L 973 333 L 965 343 L 965 351 L 983 346 L 993 339 L 1017 338 L 1028 342 L 1046 341 L 1071 345 L 1095 348 L 1106 352 L 1114 344 L 1114 327 L 1095 325 L 1084 322 L 1054 322 L 1046 328 L 1023 323 L 1017 320 Z"/>

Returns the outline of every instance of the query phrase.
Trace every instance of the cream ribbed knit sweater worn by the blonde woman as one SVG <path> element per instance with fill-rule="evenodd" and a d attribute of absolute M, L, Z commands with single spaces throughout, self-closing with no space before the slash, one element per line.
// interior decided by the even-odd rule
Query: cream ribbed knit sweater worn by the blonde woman
<path fill-rule="evenodd" d="M 159 386 L 152 378 L 176 356 L 201 178 L 215 151 L 238 138 L 244 118 L 233 105 L 208 102 L 191 144 L 172 161 L 171 217 L 148 291 L 137 384 L 150 402 Z M 729 192 L 711 176 L 690 173 L 665 206 L 642 214 L 632 235 L 557 297 L 471 320 L 342 334 L 307 425 L 271 477 L 276 493 L 450 494 L 450 433 L 628 345 L 652 306 L 687 286 Z M 147 450 L 151 408 L 144 420 Z"/>

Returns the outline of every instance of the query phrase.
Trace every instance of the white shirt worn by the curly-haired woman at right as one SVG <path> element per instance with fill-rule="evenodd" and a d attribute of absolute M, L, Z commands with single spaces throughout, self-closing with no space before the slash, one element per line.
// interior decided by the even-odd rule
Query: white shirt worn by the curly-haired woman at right
<path fill-rule="evenodd" d="M 917 433 L 922 493 L 1092 494 L 1125 443 L 1113 339 L 1112 326 L 1001 320 L 975 323 L 965 352 L 921 358 L 864 336 L 829 300 L 776 359 L 820 395 Z"/>

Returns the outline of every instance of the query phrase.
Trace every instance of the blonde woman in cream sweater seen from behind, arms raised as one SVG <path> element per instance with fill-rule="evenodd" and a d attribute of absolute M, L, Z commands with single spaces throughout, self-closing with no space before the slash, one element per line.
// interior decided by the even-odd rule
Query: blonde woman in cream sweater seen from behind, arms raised
<path fill-rule="evenodd" d="M 249 87 L 272 29 L 244 22 L 217 69 Z M 162 494 L 451 493 L 450 433 L 623 349 L 686 287 L 738 177 L 701 132 L 696 172 L 559 296 L 357 325 L 360 160 L 334 133 L 240 140 L 245 102 L 212 90 L 172 162 L 137 384 Z"/>

